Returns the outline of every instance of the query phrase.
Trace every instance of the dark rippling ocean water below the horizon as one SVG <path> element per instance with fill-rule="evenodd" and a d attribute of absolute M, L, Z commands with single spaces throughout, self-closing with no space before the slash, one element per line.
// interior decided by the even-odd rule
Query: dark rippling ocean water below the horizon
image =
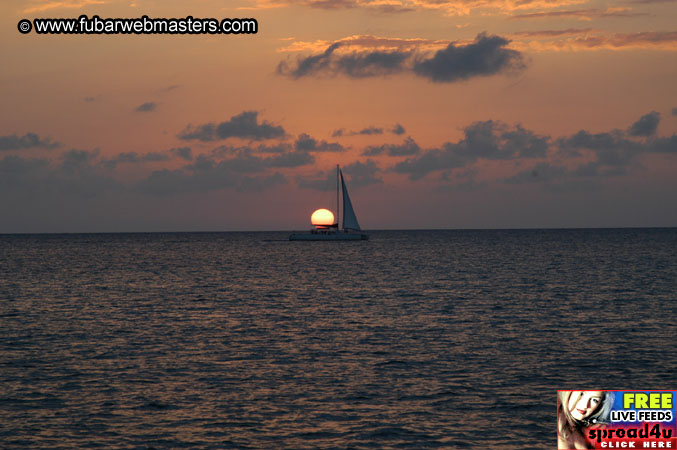
<path fill-rule="evenodd" d="M 0 448 L 552 449 L 675 389 L 677 229 L 0 236 Z"/>

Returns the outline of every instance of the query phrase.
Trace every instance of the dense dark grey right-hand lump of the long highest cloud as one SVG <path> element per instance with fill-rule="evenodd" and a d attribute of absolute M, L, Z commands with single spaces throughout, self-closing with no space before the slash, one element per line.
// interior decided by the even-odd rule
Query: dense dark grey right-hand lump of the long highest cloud
<path fill-rule="evenodd" d="M 476 76 L 494 75 L 525 67 L 520 52 L 506 48 L 510 41 L 500 36 L 479 34 L 466 46 L 449 44 L 432 58 L 419 59 L 414 73 L 437 83 L 451 83 Z"/>

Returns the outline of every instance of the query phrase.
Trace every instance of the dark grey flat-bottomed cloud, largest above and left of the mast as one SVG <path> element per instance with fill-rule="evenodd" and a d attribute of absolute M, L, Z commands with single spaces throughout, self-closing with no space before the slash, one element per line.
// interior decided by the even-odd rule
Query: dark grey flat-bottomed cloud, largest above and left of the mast
<path fill-rule="evenodd" d="M 275 139 L 285 136 L 284 128 L 269 122 L 258 122 L 258 112 L 245 111 L 219 124 L 208 123 L 196 128 L 188 126 L 179 133 L 183 140 L 199 140 L 203 142 L 216 141 L 228 138 Z"/>

